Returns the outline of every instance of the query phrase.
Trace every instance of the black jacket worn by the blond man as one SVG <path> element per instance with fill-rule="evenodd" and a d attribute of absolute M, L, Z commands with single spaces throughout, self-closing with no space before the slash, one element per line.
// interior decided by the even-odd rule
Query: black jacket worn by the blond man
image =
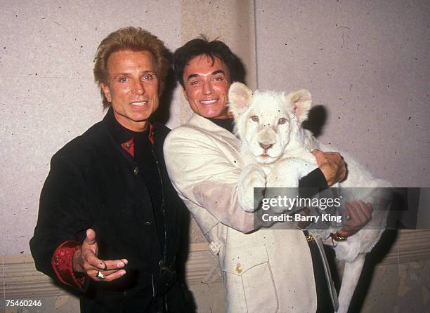
<path fill-rule="evenodd" d="M 174 269 L 181 244 L 180 225 L 186 209 L 171 185 L 162 152 L 169 128 L 154 125 L 153 156 L 162 178 L 165 212 L 166 238 L 161 239 L 165 244 L 164 253 L 150 194 L 141 177 L 145 173 L 136 169 L 133 157 L 115 141 L 112 133 L 115 122 L 110 110 L 103 121 L 53 156 L 51 171 L 41 192 L 37 226 L 30 241 L 37 269 L 56 280 L 51 266 L 53 252 L 65 241 L 82 242 L 88 228 L 96 231 L 100 259 L 129 260 L 127 273 L 121 279 L 110 283 L 91 281 L 86 298 L 82 298 L 86 303 L 83 310 L 88 310 L 93 302 L 100 302 L 103 307 L 112 299 L 112 293 L 119 295 L 115 303 L 119 302 L 121 309 L 124 309 L 121 304 L 124 299 L 131 308 L 149 305 L 153 300 L 153 275 L 157 277 L 160 272 L 159 262 L 164 261 Z M 123 297 L 124 291 L 128 297 Z M 173 295 L 173 298 L 181 297 Z M 112 309 L 112 312 L 118 310 Z M 102 309 L 88 310 L 99 311 Z"/>

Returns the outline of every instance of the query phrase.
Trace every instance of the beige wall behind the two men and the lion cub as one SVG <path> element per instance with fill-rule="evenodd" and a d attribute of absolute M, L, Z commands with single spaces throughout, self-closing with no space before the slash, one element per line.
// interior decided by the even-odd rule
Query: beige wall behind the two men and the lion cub
<path fill-rule="evenodd" d="M 44 299 L 43 312 L 76 312 L 76 298 L 34 271 L 28 241 L 51 155 L 104 114 L 93 54 L 119 27 L 143 26 L 171 51 L 200 33 L 219 36 L 245 62 L 252 88 L 258 76 L 261 89 L 313 93 L 314 105 L 327 112 L 323 141 L 395 185 L 430 186 L 428 1 L 45 0 L 0 6 L 0 278 L 6 299 L 34 295 Z M 177 88 L 168 125 L 188 116 Z M 430 252 L 422 241 L 429 242 L 428 235 L 408 236 L 400 236 L 403 244 L 375 272 L 370 290 L 380 296 L 368 296 L 364 312 L 429 305 Z M 199 312 L 223 312 L 219 271 L 211 270 L 216 260 L 196 225 L 191 241 L 188 281 Z"/>

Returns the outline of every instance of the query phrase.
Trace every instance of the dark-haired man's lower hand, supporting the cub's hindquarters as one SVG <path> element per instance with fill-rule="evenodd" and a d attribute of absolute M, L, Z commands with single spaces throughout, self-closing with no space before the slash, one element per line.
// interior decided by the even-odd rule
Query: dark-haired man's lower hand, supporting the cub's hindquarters
<path fill-rule="evenodd" d="M 344 224 L 337 235 L 348 237 L 358 232 L 372 219 L 372 211 L 372 205 L 364 201 L 346 202 Z"/>

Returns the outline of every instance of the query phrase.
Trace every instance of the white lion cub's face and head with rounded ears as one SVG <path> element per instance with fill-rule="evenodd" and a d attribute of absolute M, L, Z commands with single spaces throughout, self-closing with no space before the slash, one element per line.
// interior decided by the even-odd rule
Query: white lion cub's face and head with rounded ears
<path fill-rule="evenodd" d="M 275 91 L 253 94 L 244 84 L 234 83 L 228 99 L 242 151 L 262 164 L 282 156 L 311 108 L 311 93 L 305 90 L 288 95 Z"/>

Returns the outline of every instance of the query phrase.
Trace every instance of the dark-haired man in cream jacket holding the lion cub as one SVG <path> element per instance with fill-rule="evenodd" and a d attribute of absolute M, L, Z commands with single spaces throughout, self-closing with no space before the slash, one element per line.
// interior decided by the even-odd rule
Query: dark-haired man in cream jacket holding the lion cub
<path fill-rule="evenodd" d="M 253 213 L 237 202 L 240 142 L 226 106 L 236 74 L 230 61 L 237 58 L 223 42 L 204 38 L 188 41 L 174 58 L 195 114 L 169 133 L 164 157 L 174 187 L 219 258 L 226 311 L 333 312 L 337 298 L 320 244 L 301 230 L 258 229 Z M 300 187 L 327 187 L 344 179 L 339 154 L 313 153 L 319 168 L 301 179 Z M 364 203 L 356 207 L 339 237 L 353 234 L 370 219 L 371 208 Z"/>

